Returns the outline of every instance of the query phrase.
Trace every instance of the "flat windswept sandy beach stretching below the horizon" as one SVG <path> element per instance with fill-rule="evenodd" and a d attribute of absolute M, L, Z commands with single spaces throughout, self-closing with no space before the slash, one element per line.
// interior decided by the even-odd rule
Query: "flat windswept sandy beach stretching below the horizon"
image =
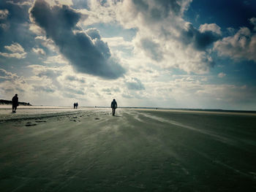
<path fill-rule="evenodd" d="M 0 191 L 256 191 L 256 115 L 0 109 Z"/>

